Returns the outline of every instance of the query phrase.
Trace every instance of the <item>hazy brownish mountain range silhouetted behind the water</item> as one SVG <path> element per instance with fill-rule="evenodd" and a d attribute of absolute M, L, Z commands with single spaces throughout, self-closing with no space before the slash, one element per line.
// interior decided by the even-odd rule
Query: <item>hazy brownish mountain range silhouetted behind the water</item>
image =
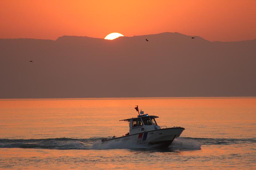
<path fill-rule="evenodd" d="M 256 96 L 256 39 L 193 37 L 0 39 L 0 98 Z"/>

